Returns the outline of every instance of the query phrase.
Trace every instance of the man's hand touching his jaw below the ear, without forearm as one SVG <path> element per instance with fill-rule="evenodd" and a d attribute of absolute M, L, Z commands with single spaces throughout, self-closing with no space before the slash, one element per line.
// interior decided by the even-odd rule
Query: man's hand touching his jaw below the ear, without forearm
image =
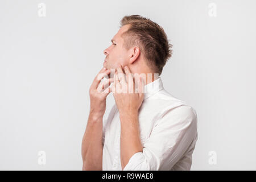
<path fill-rule="evenodd" d="M 138 83 L 138 90 L 136 90 L 135 83 Z M 125 67 L 125 73 L 123 73 L 122 66 L 119 65 L 111 88 L 119 113 L 138 113 L 144 98 L 143 87 L 141 77 L 135 78 L 134 82 L 130 69 Z"/>

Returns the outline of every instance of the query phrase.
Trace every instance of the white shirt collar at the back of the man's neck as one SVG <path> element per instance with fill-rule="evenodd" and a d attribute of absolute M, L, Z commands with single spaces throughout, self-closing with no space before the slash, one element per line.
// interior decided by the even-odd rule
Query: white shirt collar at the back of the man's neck
<path fill-rule="evenodd" d="M 144 85 L 144 100 L 163 89 L 163 82 L 159 76 L 156 80 Z"/>

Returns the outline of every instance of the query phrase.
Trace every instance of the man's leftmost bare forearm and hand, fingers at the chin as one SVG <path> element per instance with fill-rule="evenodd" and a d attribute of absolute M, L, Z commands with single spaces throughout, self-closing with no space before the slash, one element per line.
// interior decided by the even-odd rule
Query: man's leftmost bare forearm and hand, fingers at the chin
<path fill-rule="evenodd" d="M 101 80 L 109 73 L 109 70 L 102 68 L 90 86 L 90 113 L 82 138 L 82 170 L 102 170 L 102 118 L 106 110 L 106 97 L 110 93 L 109 84 L 113 78 Z"/>

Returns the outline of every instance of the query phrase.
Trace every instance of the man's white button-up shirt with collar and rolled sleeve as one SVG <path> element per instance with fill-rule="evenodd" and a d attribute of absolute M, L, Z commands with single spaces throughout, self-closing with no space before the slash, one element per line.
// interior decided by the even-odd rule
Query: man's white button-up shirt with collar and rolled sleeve
<path fill-rule="evenodd" d="M 197 114 L 163 88 L 160 77 L 144 85 L 138 112 L 143 151 L 131 156 L 123 170 L 190 170 L 197 141 Z M 103 123 L 102 170 L 122 170 L 121 123 L 114 104 Z"/>

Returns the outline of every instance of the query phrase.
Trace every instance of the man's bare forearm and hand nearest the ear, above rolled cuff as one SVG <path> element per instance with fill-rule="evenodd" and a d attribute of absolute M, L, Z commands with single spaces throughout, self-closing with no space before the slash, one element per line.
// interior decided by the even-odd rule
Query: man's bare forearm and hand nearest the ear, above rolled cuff
<path fill-rule="evenodd" d="M 135 85 L 135 83 L 138 83 L 138 85 Z M 135 92 L 136 87 L 138 87 L 138 92 Z M 131 156 L 143 151 L 138 120 L 138 110 L 144 98 L 143 88 L 144 83 L 141 77 L 135 78 L 134 82 L 130 69 L 125 67 L 124 74 L 121 65 L 119 65 L 114 76 L 112 92 L 121 122 L 120 152 L 122 169 L 125 168 Z"/>

